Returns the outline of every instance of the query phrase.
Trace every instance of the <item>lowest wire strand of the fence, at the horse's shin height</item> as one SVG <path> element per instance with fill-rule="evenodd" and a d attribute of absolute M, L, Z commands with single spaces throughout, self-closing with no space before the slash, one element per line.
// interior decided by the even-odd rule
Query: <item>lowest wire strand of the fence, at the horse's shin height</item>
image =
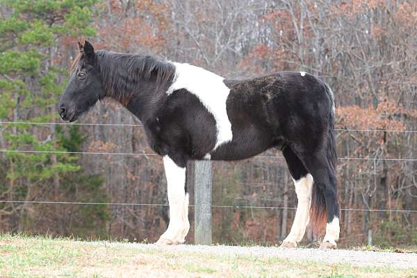
<path fill-rule="evenodd" d="M 101 206 L 169 206 L 169 204 L 138 204 L 138 203 L 104 203 L 104 202 L 54 202 L 54 201 L 19 201 L 19 200 L 0 200 L 1 203 L 16 203 L 16 204 L 75 204 L 75 205 L 101 205 Z M 195 207 L 190 204 L 188 207 Z M 250 209 L 297 209 L 293 206 L 237 206 L 237 205 L 223 205 L 213 204 L 212 208 L 250 208 Z M 371 208 L 341 208 L 341 211 L 382 211 L 391 213 L 417 213 L 414 210 L 407 209 L 371 209 Z"/>

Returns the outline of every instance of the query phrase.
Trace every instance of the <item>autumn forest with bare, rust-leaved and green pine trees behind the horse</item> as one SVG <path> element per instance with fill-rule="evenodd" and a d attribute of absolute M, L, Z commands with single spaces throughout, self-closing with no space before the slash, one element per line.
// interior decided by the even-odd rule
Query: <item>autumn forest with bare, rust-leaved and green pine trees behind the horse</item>
<path fill-rule="evenodd" d="M 116 125 L 10 124 L 62 123 L 56 104 L 88 39 L 229 79 L 319 76 L 336 99 L 341 244 L 366 243 L 368 230 L 377 245 L 417 244 L 416 1 L 0 0 L 0 15 L 1 231 L 154 242 L 167 227 L 161 158 L 145 155 L 140 122 L 119 104 L 101 101 L 78 122 Z M 215 243 L 284 239 L 297 200 L 273 156 L 213 163 Z M 193 206 L 190 220 L 193 243 Z"/>

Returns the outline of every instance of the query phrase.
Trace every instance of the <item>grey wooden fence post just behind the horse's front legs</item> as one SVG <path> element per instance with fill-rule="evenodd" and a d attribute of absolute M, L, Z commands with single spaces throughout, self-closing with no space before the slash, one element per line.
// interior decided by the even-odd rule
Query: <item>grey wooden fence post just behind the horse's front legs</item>
<path fill-rule="evenodd" d="M 211 161 L 195 161 L 194 244 L 211 245 Z"/>

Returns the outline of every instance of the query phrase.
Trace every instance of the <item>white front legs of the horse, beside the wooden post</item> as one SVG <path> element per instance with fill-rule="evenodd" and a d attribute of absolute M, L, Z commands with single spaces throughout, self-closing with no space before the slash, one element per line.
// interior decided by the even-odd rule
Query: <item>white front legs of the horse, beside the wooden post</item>
<path fill-rule="evenodd" d="M 168 186 L 170 224 L 156 244 L 176 245 L 184 243 L 190 222 L 188 222 L 188 193 L 186 192 L 186 167 L 179 167 L 169 156 L 163 157 L 163 166 Z"/>

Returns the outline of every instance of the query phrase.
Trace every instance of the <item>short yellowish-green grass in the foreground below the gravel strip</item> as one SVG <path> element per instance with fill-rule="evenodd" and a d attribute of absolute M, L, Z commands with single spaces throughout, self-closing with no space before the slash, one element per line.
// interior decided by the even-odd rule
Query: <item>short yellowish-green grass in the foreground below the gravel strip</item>
<path fill-rule="evenodd" d="M 414 271 L 273 256 L 175 252 L 129 243 L 0 236 L 0 277 L 417 277 Z"/>

